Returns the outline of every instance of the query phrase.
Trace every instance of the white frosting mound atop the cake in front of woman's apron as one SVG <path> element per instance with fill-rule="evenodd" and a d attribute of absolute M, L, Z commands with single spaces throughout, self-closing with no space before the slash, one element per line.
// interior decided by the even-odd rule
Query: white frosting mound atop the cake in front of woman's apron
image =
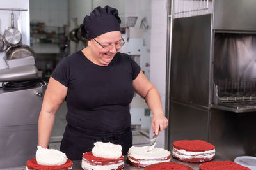
<path fill-rule="evenodd" d="M 122 146 L 113 143 L 95 142 L 92 154 L 102 158 L 120 158 L 122 156 Z"/>

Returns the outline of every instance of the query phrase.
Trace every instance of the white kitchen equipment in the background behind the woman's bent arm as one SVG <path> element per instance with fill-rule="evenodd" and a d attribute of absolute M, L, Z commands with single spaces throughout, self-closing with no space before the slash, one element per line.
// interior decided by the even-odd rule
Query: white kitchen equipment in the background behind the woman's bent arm
<path fill-rule="evenodd" d="M 127 53 L 131 59 L 133 59 L 140 67 L 145 76 L 149 78 L 150 67 L 149 60 L 150 55 L 147 50 L 147 46 L 143 45 L 143 36 L 145 29 L 138 29 L 133 27 L 135 25 L 137 17 L 128 17 L 127 25 L 125 30 L 129 31 L 122 32 L 122 38 L 124 38 L 125 45 L 120 48 L 119 52 Z M 137 103 L 134 106 L 133 103 Z M 150 129 L 150 110 L 148 109 L 145 101 L 138 95 L 134 94 L 132 103 L 130 104 L 131 113 L 131 125 L 134 129 L 140 129 L 149 136 Z"/>

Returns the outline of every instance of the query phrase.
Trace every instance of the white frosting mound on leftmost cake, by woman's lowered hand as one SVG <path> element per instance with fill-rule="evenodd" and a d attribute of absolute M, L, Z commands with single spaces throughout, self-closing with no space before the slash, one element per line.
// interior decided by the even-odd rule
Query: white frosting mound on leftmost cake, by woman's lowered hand
<path fill-rule="evenodd" d="M 36 161 L 44 166 L 60 166 L 67 162 L 67 156 L 59 150 L 45 149 L 37 146 Z"/>

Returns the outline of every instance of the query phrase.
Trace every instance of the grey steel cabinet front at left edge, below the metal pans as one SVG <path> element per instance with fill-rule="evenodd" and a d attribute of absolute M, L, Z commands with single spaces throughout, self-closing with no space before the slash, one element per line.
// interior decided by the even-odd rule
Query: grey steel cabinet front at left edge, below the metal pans
<path fill-rule="evenodd" d="M 38 145 L 42 87 L 0 88 L 0 101 L 0 168 L 25 165 L 35 157 Z"/>

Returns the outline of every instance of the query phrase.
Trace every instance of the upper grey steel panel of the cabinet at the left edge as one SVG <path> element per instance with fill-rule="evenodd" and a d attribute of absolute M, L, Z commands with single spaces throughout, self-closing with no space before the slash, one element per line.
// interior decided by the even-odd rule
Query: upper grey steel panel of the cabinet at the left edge
<path fill-rule="evenodd" d="M 42 97 L 36 92 L 42 93 L 42 87 L 12 91 L 0 89 L 0 127 L 38 124 Z"/>

